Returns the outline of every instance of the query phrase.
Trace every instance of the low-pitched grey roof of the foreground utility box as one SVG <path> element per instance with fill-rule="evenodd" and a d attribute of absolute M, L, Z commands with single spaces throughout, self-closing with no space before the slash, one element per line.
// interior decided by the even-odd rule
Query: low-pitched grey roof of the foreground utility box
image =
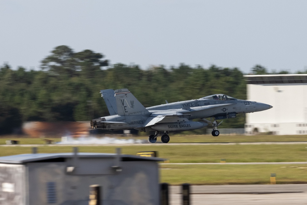
<path fill-rule="evenodd" d="M 29 162 L 50 162 L 52 160 L 59 160 L 65 158 L 72 158 L 75 153 L 37 153 L 37 154 L 20 154 L 12 156 L 0 157 L 0 163 L 3 164 L 24 164 Z M 87 153 L 78 152 L 78 158 L 115 158 L 117 154 L 112 153 Z M 121 161 L 164 161 L 164 159 L 157 157 L 143 157 L 134 155 L 119 155 Z"/>

